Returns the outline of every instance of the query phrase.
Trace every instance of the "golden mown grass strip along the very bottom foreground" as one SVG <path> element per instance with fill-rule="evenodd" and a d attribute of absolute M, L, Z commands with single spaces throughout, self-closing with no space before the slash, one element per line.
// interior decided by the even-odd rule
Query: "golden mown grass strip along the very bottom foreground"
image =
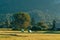
<path fill-rule="evenodd" d="M 0 35 L 0 40 L 60 40 L 60 34 Z"/>

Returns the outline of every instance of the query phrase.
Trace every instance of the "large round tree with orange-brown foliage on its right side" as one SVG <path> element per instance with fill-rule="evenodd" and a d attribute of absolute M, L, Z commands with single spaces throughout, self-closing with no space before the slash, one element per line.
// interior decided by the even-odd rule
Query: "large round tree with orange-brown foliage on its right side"
<path fill-rule="evenodd" d="M 19 12 L 13 15 L 18 30 L 25 29 L 30 25 L 30 15 L 26 12 Z"/>

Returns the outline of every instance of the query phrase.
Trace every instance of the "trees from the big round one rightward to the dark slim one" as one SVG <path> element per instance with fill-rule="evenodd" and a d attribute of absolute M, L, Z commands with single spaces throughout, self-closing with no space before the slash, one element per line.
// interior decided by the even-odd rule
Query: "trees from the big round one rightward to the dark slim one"
<path fill-rule="evenodd" d="M 29 29 L 29 30 L 48 30 L 50 29 L 49 26 L 44 22 L 40 21 L 35 23 L 34 18 L 31 18 L 29 13 L 26 12 L 19 12 L 13 15 L 14 23 L 20 29 Z M 51 30 L 54 30 L 56 21 L 53 20 L 53 25 Z"/>

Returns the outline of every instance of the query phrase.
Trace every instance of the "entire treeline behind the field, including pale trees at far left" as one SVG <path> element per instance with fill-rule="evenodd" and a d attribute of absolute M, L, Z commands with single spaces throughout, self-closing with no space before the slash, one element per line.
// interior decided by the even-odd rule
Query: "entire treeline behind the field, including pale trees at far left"
<path fill-rule="evenodd" d="M 35 23 L 34 18 L 31 18 L 27 12 L 18 12 L 13 15 L 6 15 L 6 21 L 0 22 L 0 28 L 12 28 L 12 30 L 54 30 L 56 21 L 53 20 L 52 24 L 48 24 L 42 20 Z"/>

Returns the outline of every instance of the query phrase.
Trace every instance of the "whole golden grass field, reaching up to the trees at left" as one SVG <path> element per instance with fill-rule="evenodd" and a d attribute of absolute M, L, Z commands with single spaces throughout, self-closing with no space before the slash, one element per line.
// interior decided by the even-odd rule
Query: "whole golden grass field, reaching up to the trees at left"
<path fill-rule="evenodd" d="M 0 40 L 60 40 L 60 34 L 21 33 L 0 31 Z"/>

